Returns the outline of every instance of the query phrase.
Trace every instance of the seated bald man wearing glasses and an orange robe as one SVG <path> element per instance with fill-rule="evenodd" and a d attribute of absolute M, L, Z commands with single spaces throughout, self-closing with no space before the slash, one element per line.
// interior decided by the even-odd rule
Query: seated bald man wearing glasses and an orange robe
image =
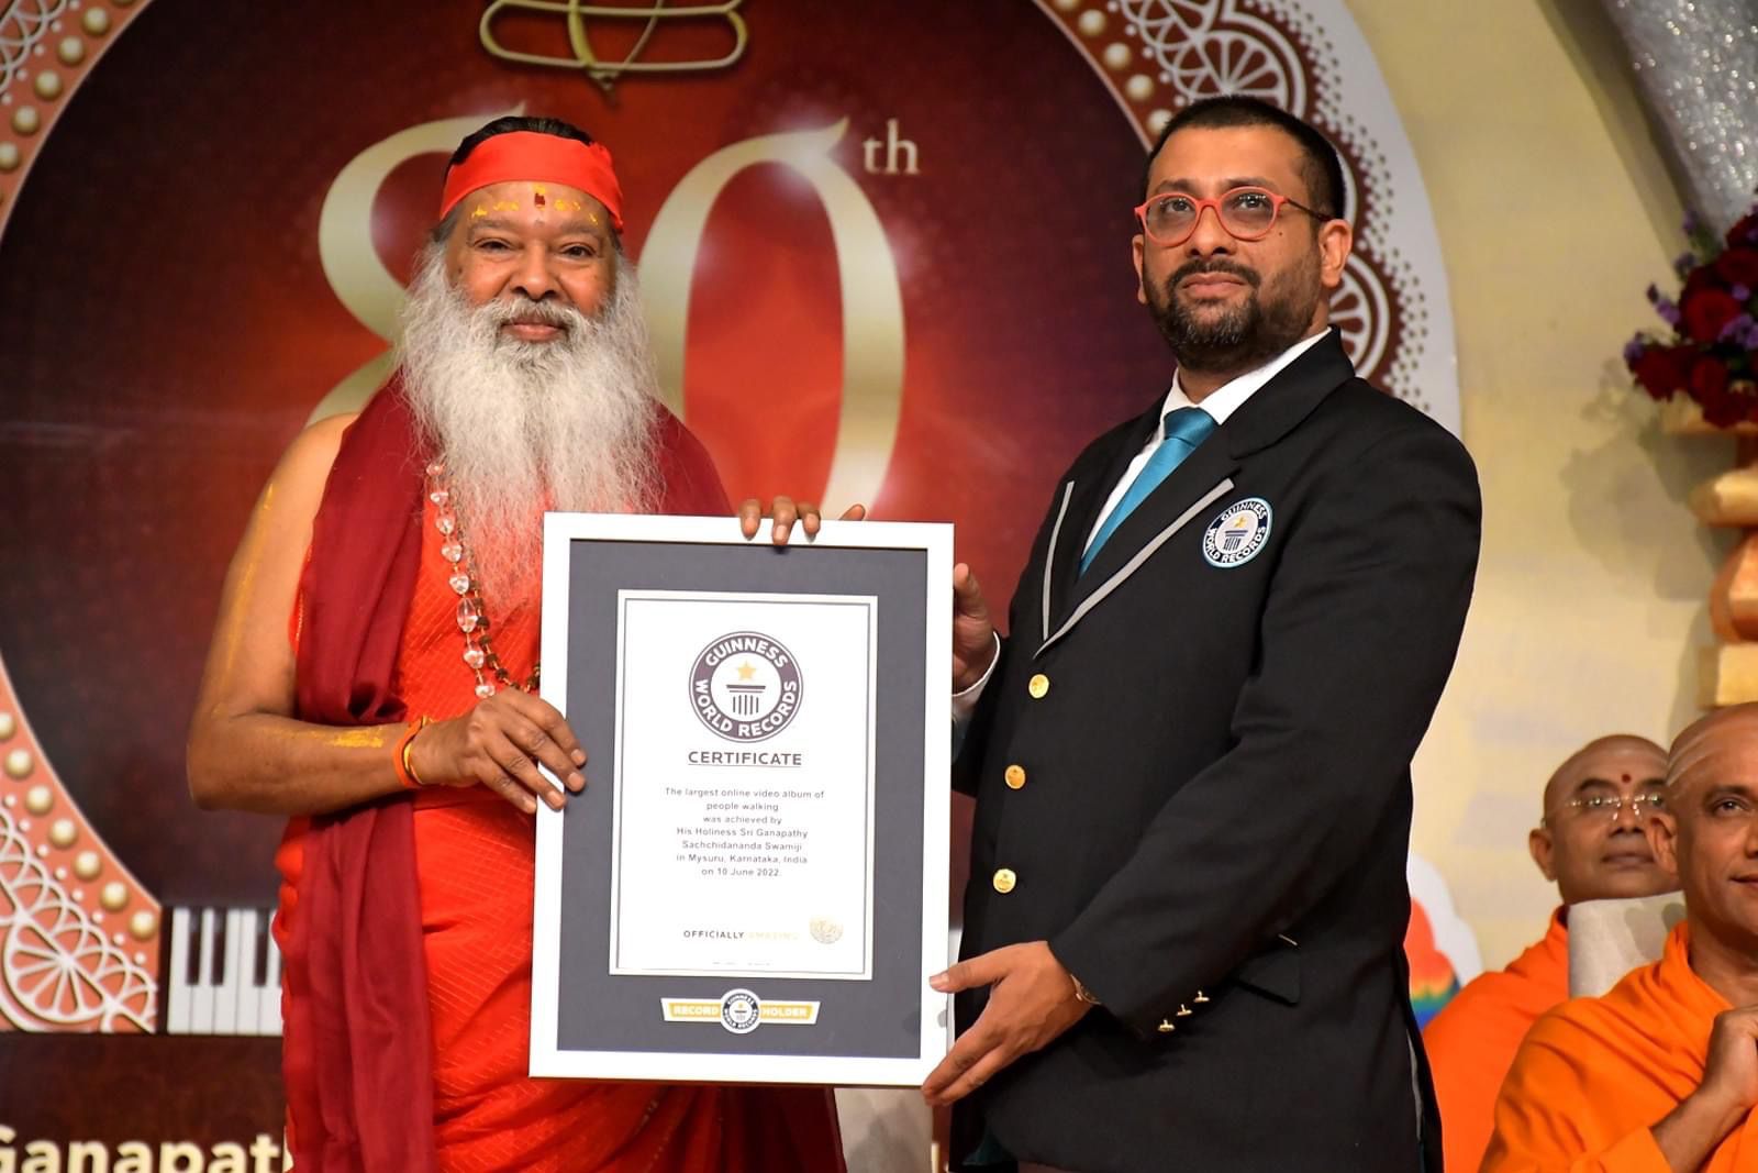
<path fill-rule="evenodd" d="M 1644 823 L 1667 788 L 1667 751 L 1645 737 L 1587 742 L 1544 788 L 1528 837 L 1533 862 L 1563 907 L 1545 936 L 1501 971 L 1473 978 L 1422 1031 L 1440 1099 L 1449 1169 L 1477 1169 L 1493 1131 L 1496 1090 L 1526 1031 L 1568 999 L 1568 906 L 1677 888 L 1649 849 Z"/>

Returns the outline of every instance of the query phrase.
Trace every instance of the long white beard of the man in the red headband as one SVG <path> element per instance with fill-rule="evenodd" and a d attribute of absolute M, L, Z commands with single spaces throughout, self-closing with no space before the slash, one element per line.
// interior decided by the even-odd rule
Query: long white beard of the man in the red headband
<path fill-rule="evenodd" d="M 503 336 L 515 317 L 566 332 L 547 343 Z M 399 359 L 476 580 L 503 614 L 536 594 L 545 508 L 640 514 L 657 503 L 657 376 L 628 264 L 589 318 L 526 297 L 473 306 L 431 246 L 403 310 Z"/>

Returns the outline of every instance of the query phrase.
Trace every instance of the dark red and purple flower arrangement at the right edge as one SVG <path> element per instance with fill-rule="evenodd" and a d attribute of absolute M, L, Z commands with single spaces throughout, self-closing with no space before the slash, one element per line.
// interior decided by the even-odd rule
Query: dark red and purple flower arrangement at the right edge
<path fill-rule="evenodd" d="M 1624 364 L 1654 399 L 1682 392 L 1716 427 L 1758 422 L 1758 206 L 1721 239 L 1693 216 L 1684 234 L 1691 250 L 1674 260 L 1684 281 L 1679 301 L 1647 288 L 1672 332 L 1638 332 L 1624 346 Z"/>

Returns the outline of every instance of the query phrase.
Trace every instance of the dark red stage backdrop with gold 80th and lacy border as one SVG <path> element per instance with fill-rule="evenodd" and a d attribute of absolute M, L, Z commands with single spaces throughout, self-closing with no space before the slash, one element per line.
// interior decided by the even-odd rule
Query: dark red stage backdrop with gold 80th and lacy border
<path fill-rule="evenodd" d="M 445 155 L 490 116 L 615 151 L 666 394 L 735 498 L 949 517 L 997 596 L 1057 473 L 1164 392 L 1129 209 L 1192 97 L 1333 134 L 1361 241 L 1336 318 L 1457 427 L 1422 181 L 1340 0 L 694 12 L 0 0 L 0 1029 L 155 1032 L 169 909 L 269 904 L 278 828 L 183 783 L 220 579 L 292 436 L 383 375 Z M 162 1096 L 132 1075 L 160 1043 L 81 1052 L 49 1096 L 23 1071 L 53 1048 L 0 1041 L 0 1152 L 141 1134 L 114 1101 Z M 223 1046 L 179 1066 L 260 1085 L 272 1127 L 272 1039 Z"/>

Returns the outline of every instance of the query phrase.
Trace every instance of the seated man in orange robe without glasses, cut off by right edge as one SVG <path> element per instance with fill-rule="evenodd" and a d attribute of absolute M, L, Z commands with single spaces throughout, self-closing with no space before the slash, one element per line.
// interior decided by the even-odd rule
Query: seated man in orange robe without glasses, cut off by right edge
<path fill-rule="evenodd" d="M 1658 962 L 1531 1029 L 1484 1173 L 1758 1169 L 1758 705 L 1679 735 L 1647 834 L 1686 920 Z"/>

